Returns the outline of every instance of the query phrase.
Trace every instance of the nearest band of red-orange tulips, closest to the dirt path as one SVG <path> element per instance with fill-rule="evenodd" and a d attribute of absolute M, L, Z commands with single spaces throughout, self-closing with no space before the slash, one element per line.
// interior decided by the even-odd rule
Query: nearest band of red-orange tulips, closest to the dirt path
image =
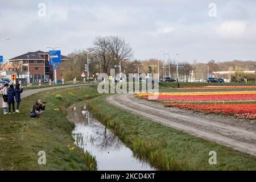
<path fill-rule="evenodd" d="M 256 118 L 256 104 L 164 104 L 166 107 L 179 107 L 200 113 L 215 113 L 235 118 Z"/>

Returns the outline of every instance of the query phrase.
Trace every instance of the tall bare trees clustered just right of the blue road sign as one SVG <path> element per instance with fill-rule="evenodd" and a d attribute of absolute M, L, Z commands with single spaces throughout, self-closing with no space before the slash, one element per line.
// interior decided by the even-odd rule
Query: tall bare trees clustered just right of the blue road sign
<path fill-rule="evenodd" d="M 66 70 L 64 78 L 67 80 L 81 76 L 81 72 L 84 71 L 84 65 L 87 64 L 88 56 L 91 60 L 89 72 L 94 75 L 97 73 L 110 74 L 110 69 L 117 69 L 120 64 L 123 73 L 127 69 L 134 68 L 130 61 L 133 59 L 133 50 L 129 43 L 126 43 L 124 39 L 118 36 L 98 36 L 88 50 L 78 50 L 68 56 L 72 60 L 64 65 Z"/>

